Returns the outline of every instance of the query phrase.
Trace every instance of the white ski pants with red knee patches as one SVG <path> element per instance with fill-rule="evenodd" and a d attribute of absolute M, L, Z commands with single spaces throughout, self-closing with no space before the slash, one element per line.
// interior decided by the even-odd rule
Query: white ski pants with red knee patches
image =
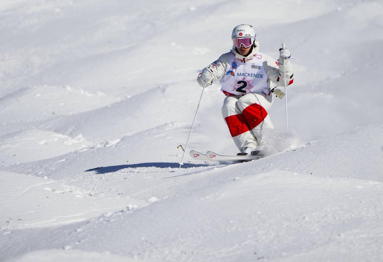
<path fill-rule="evenodd" d="M 238 149 L 257 148 L 266 143 L 264 129 L 273 129 L 267 111 L 273 104 L 273 94 L 249 93 L 228 96 L 222 106 L 222 116 Z"/>

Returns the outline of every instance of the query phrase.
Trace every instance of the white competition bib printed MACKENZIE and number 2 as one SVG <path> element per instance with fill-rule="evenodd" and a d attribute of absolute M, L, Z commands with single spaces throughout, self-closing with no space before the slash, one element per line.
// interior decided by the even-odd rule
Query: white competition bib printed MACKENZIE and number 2
<path fill-rule="evenodd" d="M 267 75 L 263 67 L 262 53 L 254 55 L 247 63 L 237 61 L 231 55 L 225 75 L 219 80 L 226 96 L 247 93 L 268 93 Z"/>

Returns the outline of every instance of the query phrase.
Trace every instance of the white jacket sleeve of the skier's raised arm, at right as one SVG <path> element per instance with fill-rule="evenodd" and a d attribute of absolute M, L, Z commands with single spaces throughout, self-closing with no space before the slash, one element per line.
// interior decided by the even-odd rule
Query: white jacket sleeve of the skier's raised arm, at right
<path fill-rule="evenodd" d="M 291 67 L 290 59 L 285 59 L 280 57 L 278 61 L 275 61 L 271 56 L 264 54 L 265 59 L 263 62 L 263 66 L 265 68 L 265 72 L 267 77 L 277 86 L 286 86 L 293 83 L 293 68 Z M 284 68 L 286 67 L 286 75 L 284 74 Z"/>

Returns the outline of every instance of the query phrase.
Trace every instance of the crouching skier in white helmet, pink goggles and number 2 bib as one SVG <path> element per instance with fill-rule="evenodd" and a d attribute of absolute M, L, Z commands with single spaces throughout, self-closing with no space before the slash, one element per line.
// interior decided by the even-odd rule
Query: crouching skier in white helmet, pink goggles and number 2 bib
<path fill-rule="evenodd" d="M 264 129 L 273 128 L 267 113 L 273 104 L 273 92 L 279 90 L 273 83 L 293 83 L 290 51 L 281 48 L 275 61 L 259 51 L 255 36 L 251 25 L 236 26 L 231 35 L 232 50 L 204 68 L 197 78 L 200 86 L 220 79 L 221 91 L 226 95 L 222 116 L 241 151 L 237 155 L 242 156 L 265 156 L 270 152 Z"/>

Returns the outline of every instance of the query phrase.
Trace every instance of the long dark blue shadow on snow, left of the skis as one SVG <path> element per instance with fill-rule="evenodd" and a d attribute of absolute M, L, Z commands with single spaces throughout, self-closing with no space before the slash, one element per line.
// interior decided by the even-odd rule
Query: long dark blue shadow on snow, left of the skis
<path fill-rule="evenodd" d="M 139 164 L 131 164 L 131 165 L 118 165 L 118 166 L 100 166 L 100 167 L 85 170 L 85 172 L 96 171 L 96 174 L 105 174 L 105 173 L 116 172 L 124 168 L 138 168 L 138 167 L 178 168 L 179 166 L 180 166 L 180 163 L 166 163 L 166 162 L 139 163 Z M 191 167 L 200 167 L 200 166 L 210 166 L 210 165 L 184 163 L 181 166 L 181 168 L 191 168 Z"/>

